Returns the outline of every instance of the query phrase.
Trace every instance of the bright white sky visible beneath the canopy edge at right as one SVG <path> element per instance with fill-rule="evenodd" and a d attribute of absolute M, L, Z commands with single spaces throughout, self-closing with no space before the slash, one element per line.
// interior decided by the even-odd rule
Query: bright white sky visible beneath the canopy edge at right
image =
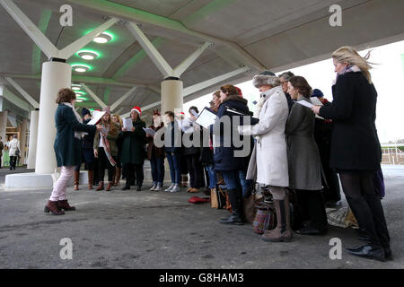
<path fill-rule="evenodd" d="M 372 50 L 370 62 L 372 80 L 378 92 L 376 106 L 376 127 L 381 143 L 396 142 L 404 139 L 404 40 L 389 45 L 359 51 L 365 56 Z M 331 86 L 335 80 L 332 59 L 303 65 L 290 69 L 295 75 L 306 78 L 312 89 L 320 89 L 327 100 L 332 101 Z M 284 72 L 284 71 L 283 71 Z M 281 74 L 281 73 L 278 73 Z M 259 91 L 252 85 L 252 81 L 236 84 L 242 89 L 245 99 L 249 100 L 249 108 L 253 110 L 252 102 L 259 99 Z M 208 106 L 212 94 L 207 94 L 196 100 L 184 103 L 184 110 L 191 106 L 199 110 Z"/>

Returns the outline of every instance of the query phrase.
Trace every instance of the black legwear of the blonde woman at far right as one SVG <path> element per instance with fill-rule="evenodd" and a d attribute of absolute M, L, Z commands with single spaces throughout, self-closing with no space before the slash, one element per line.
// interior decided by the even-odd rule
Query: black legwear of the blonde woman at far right
<path fill-rule="evenodd" d="M 373 186 L 373 171 L 338 170 L 342 189 L 359 228 L 373 245 L 390 248 L 390 236 L 380 196 Z"/>

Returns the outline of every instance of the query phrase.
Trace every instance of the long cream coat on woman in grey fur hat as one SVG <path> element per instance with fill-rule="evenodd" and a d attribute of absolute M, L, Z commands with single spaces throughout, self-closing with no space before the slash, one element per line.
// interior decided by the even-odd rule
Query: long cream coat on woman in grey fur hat
<path fill-rule="evenodd" d="M 275 187 L 288 187 L 285 124 L 289 114 L 281 87 L 271 89 L 259 113 L 259 123 L 242 126 L 243 135 L 259 135 L 257 148 L 257 182 Z M 252 162 L 251 162 L 252 163 Z"/>

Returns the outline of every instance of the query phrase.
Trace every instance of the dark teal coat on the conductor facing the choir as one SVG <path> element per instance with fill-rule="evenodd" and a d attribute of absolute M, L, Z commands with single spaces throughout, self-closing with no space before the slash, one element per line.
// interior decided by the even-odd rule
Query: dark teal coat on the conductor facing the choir
<path fill-rule="evenodd" d="M 95 126 L 80 123 L 73 109 L 64 104 L 57 106 L 55 114 L 57 135 L 53 148 L 57 158 L 57 167 L 76 166 L 82 163 L 82 144 L 75 138 L 75 131 L 94 133 Z"/>

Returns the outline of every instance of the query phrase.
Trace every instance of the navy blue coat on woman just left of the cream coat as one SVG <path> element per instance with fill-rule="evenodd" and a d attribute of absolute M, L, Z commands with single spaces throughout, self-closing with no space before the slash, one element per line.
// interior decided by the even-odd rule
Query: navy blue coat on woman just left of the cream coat
<path fill-rule="evenodd" d="M 230 170 L 247 170 L 249 165 L 250 156 L 246 157 L 235 157 L 234 151 L 242 150 L 242 147 L 236 148 L 233 144 L 233 140 L 230 141 L 230 146 L 224 147 L 224 143 L 233 138 L 233 133 L 237 131 L 238 126 L 243 124 L 243 116 L 239 116 L 237 113 L 233 113 L 229 109 L 236 110 L 239 113 L 242 113 L 248 117 L 250 117 L 250 109 L 247 107 L 247 100 L 242 99 L 238 95 L 229 95 L 223 103 L 219 106 L 217 110 L 217 117 L 220 119 L 224 116 L 230 117 L 231 126 L 224 126 L 223 123 L 216 121 L 215 125 L 211 126 L 211 131 L 214 133 L 216 137 L 215 147 L 214 147 L 214 161 L 215 161 L 215 170 L 218 171 L 230 171 Z M 240 118 L 240 125 L 237 125 L 233 122 L 235 117 Z M 220 126 L 219 126 L 220 125 Z M 215 135 L 215 130 L 219 130 L 220 135 Z M 224 133 L 225 132 L 225 133 Z M 242 139 L 242 137 L 241 137 Z M 226 141 L 225 141 L 226 140 Z M 249 136 L 249 140 L 252 138 Z M 252 143 L 251 143 L 252 150 Z M 250 155 L 251 151 L 249 152 Z"/>

